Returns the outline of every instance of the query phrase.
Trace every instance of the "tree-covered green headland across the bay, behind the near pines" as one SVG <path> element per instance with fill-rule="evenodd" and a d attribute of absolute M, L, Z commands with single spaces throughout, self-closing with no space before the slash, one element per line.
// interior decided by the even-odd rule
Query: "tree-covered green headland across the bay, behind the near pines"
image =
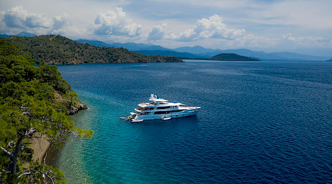
<path fill-rule="evenodd" d="M 31 53 L 33 61 L 47 64 L 183 62 L 177 57 L 146 56 L 124 48 L 82 44 L 60 35 L 11 37 L 9 42 Z"/>

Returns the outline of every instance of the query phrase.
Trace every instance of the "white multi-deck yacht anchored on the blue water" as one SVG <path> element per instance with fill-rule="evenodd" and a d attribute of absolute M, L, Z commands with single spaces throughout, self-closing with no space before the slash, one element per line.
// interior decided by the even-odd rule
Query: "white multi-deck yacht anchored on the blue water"
<path fill-rule="evenodd" d="M 171 103 L 168 100 L 157 98 L 151 94 L 150 102 L 140 103 L 135 108 L 135 113 L 129 117 L 121 117 L 132 122 L 142 122 L 143 120 L 170 120 L 171 118 L 187 117 L 196 115 L 201 107 L 186 107 L 182 103 Z"/>

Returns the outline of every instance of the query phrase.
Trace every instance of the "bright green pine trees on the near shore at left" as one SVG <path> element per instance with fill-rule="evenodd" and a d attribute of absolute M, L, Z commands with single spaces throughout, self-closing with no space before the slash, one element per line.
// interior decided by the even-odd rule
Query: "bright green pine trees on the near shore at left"
<path fill-rule="evenodd" d="M 55 98 L 60 95 L 67 103 Z M 65 183 L 64 174 L 38 161 L 32 161 L 33 149 L 27 147 L 36 134 L 47 135 L 61 147 L 72 132 L 91 137 L 92 131 L 74 127 L 67 119 L 79 103 L 77 94 L 57 67 L 33 59 L 8 40 L 0 39 L 0 183 L 42 183 L 43 174 L 55 183 Z M 23 165 L 24 163 L 24 165 Z"/>

